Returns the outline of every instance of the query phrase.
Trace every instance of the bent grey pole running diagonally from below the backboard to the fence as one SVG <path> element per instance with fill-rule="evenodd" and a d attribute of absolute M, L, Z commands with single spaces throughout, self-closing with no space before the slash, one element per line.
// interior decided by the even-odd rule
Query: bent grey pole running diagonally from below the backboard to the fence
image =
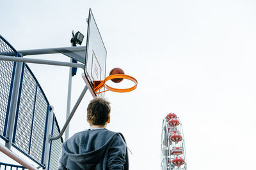
<path fill-rule="evenodd" d="M 79 98 L 77 99 L 76 104 L 75 104 L 74 108 L 72 109 L 72 111 L 71 111 L 71 113 L 70 113 L 70 115 L 69 115 L 67 121 L 65 122 L 65 125 L 64 125 L 63 128 L 61 129 L 60 134 L 58 134 L 58 136 L 55 136 L 55 137 L 50 138 L 51 141 L 52 141 L 52 140 L 59 139 L 59 138 L 62 136 L 62 134 L 65 132 L 65 129 L 67 128 L 67 126 L 68 126 L 70 120 L 72 119 L 74 113 L 76 112 L 77 107 L 78 107 L 79 104 L 81 103 L 81 101 L 82 101 L 82 99 L 83 99 L 83 97 L 84 97 L 84 94 L 86 93 L 86 90 L 87 90 L 87 89 L 88 89 L 87 86 L 85 86 L 84 89 L 83 89 L 83 92 L 81 92 Z"/>

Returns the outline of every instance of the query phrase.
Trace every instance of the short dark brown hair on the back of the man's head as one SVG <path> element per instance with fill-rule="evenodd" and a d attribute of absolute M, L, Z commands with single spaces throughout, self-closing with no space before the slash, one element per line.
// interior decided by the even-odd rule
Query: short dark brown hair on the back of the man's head
<path fill-rule="evenodd" d="M 87 117 L 90 125 L 105 125 L 110 114 L 109 102 L 103 98 L 94 98 L 87 108 Z"/>

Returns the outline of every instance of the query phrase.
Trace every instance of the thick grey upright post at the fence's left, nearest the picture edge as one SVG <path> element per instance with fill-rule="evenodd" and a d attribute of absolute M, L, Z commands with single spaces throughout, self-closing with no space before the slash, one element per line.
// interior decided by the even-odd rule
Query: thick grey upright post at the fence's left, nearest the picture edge
<path fill-rule="evenodd" d="M 18 58 L 18 57 L 10 57 L 10 58 Z M 12 98 L 10 103 L 8 125 L 6 130 L 6 138 L 8 138 L 9 141 L 5 143 L 5 146 L 9 149 L 12 146 L 14 122 L 15 122 L 17 102 L 19 97 L 21 71 L 22 71 L 22 62 L 16 62 L 15 75 L 14 75 L 13 88 L 12 88 Z"/>

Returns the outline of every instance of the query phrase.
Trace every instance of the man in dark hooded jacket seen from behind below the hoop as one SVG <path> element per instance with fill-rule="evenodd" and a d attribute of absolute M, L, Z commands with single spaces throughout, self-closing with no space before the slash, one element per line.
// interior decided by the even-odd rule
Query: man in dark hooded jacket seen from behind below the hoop
<path fill-rule="evenodd" d="M 124 136 L 106 129 L 109 102 L 96 97 L 87 108 L 90 129 L 74 134 L 62 146 L 60 167 L 70 170 L 129 169 Z"/>

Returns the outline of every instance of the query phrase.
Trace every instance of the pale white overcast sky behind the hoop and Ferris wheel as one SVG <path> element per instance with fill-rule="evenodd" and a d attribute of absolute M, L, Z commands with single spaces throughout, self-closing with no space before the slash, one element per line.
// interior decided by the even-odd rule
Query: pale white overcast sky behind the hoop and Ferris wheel
<path fill-rule="evenodd" d="M 161 124 L 170 112 L 182 121 L 188 169 L 253 169 L 256 1 L 0 1 L 0 8 L 0 34 L 17 50 L 70 46 L 72 30 L 86 35 L 92 8 L 108 51 L 106 73 L 121 67 L 138 80 L 133 92 L 106 93 L 108 129 L 127 139 L 131 169 L 160 169 Z M 62 127 L 68 68 L 29 66 Z M 81 73 L 72 106 L 84 87 Z M 87 92 L 70 134 L 88 128 L 91 99 Z"/>

